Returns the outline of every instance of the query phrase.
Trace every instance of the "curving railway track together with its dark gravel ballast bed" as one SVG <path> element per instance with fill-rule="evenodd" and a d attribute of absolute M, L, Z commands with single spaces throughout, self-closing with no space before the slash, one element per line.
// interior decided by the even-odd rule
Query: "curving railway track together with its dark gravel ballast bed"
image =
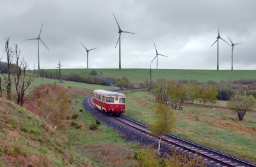
<path fill-rule="evenodd" d="M 148 140 L 149 143 L 154 143 L 155 146 L 157 145 L 157 138 L 153 138 L 152 136 L 150 136 L 150 131 L 148 130 L 148 126 L 145 125 L 145 123 L 138 122 L 127 116 L 121 115 L 120 117 L 117 117 L 106 115 L 106 113 L 103 112 L 99 112 L 99 110 L 96 109 L 92 104 L 92 95 L 84 100 L 84 108 L 86 109 L 86 111 L 90 111 L 97 118 L 101 118 L 102 115 L 104 115 L 103 117 L 105 119 L 100 119 L 100 121 L 105 125 L 108 125 L 112 129 L 120 132 L 120 134 L 123 134 L 124 138 L 127 139 L 127 141 L 137 141 L 140 142 L 142 145 L 145 145 L 145 138 L 147 138 L 146 140 Z M 127 131 L 129 133 L 128 135 L 130 136 L 129 138 L 126 138 Z M 138 133 L 140 134 L 139 136 L 140 138 L 142 138 L 142 141 L 141 139 L 131 138 L 131 136 L 138 136 Z M 193 143 L 186 139 L 179 138 L 172 134 L 165 134 L 165 137 L 162 139 L 161 145 L 162 149 L 165 147 L 163 151 L 165 150 L 166 152 L 168 152 L 168 149 L 170 147 L 176 147 L 179 152 L 186 152 L 187 154 L 198 154 L 203 157 L 204 161 L 208 164 L 208 166 L 256 167 L 256 164 L 250 161 L 240 159 L 238 157 L 220 152 L 218 150 L 213 150 L 212 148 L 204 147 L 202 145 Z"/>

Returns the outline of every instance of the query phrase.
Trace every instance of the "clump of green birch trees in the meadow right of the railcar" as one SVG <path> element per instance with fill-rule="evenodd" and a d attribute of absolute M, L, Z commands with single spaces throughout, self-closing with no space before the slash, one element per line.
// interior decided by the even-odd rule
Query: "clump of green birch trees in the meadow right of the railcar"
<path fill-rule="evenodd" d="M 184 102 L 193 103 L 200 100 L 205 105 L 217 102 L 218 92 L 211 86 L 200 87 L 193 83 L 179 83 L 179 81 L 167 81 L 157 79 L 153 84 L 151 92 L 155 95 L 157 102 L 173 109 L 182 110 Z"/>

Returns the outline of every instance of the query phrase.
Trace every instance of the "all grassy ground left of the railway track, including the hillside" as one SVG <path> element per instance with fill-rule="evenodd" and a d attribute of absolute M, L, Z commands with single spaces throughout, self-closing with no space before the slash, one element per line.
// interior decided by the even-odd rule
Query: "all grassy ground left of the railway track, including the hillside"
<path fill-rule="evenodd" d="M 47 95 L 60 93 L 57 90 L 62 88 L 51 89 L 54 81 L 44 79 L 44 83 L 51 83 L 44 87 L 49 90 Z M 41 82 L 42 79 L 36 79 L 35 84 Z M 0 99 L 0 166 L 132 166 L 138 144 L 125 142 L 122 136 L 104 125 L 99 125 L 96 131 L 89 129 L 95 118 L 84 111 L 83 100 L 92 90 L 108 87 L 68 81 L 57 84 L 69 89 L 67 93 L 71 99 L 70 119 L 62 120 L 58 130 L 42 116 L 44 113 L 38 116 L 15 102 Z M 81 91 L 71 88 L 73 86 L 92 90 Z M 31 100 L 36 102 L 36 98 Z M 71 119 L 74 114 L 79 115 L 76 120 Z M 71 122 L 78 123 L 81 128 L 71 127 Z"/>

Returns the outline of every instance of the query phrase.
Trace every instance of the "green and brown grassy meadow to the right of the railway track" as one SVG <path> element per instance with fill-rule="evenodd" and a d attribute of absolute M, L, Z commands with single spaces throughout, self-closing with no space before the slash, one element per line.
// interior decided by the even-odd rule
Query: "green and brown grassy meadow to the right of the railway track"
<path fill-rule="evenodd" d="M 141 122 L 152 121 L 156 106 L 154 95 L 148 91 L 124 91 L 125 115 Z M 225 106 L 218 101 L 216 106 Z M 237 115 L 228 109 L 186 104 L 182 111 L 175 110 L 176 129 L 173 134 L 256 163 L 256 113 L 248 112 L 243 121 L 230 118 Z"/>

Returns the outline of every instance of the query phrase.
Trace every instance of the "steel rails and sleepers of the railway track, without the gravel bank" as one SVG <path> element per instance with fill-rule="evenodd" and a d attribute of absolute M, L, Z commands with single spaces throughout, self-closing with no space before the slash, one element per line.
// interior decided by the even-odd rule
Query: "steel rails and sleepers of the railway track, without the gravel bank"
<path fill-rule="evenodd" d="M 90 104 L 92 104 L 92 97 L 88 98 Z M 109 115 L 108 115 L 109 116 Z M 143 123 L 136 122 L 131 118 L 127 118 L 126 116 L 109 116 L 111 119 L 114 119 L 135 131 L 139 131 L 145 135 L 150 135 L 150 131 L 148 130 L 148 126 Z M 157 139 L 157 138 L 156 138 Z M 213 150 L 208 147 L 204 147 L 202 145 L 198 145 L 186 139 L 179 138 L 177 136 L 173 136 L 172 134 L 164 134 L 162 138 L 161 144 L 168 144 L 169 146 L 176 147 L 180 152 L 185 152 L 187 154 L 198 154 L 202 156 L 202 159 L 205 161 L 215 164 L 214 166 L 230 166 L 230 167 L 256 167 L 256 164 L 252 162 L 245 161 L 243 159 L 239 159 L 232 155 L 225 154 L 223 152 L 219 152 L 217 150 Z"/>

